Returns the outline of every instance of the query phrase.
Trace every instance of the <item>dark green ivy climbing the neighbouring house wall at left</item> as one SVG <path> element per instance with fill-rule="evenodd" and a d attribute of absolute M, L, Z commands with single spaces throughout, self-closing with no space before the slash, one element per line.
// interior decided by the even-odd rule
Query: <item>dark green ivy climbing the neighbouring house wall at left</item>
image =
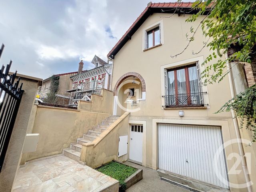
<path fill-rule="evenodd" d="M 59 89 L 59 78 L 60 78 L 59 76 L 55 76 L 55 75 L 50 77 L 50 80 L 51 80 L 50 89 L 49 89 L 49 92 L 47 93 L 47 98 L 44 99 L 44 102 L 53 103 L 53 104 L 57 103 L 56 94 Z"/>

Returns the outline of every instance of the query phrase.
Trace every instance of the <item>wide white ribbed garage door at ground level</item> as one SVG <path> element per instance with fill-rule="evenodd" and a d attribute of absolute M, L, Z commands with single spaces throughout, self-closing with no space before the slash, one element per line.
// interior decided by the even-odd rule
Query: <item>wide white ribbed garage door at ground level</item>
<path fill-rule="evenodd" d="M 222 182 L 214 171 L 214 154 L 221 145 L 219 127 L 158 124 L 158 168 L 228 188 L 224 153 L 218 160 Z"/>

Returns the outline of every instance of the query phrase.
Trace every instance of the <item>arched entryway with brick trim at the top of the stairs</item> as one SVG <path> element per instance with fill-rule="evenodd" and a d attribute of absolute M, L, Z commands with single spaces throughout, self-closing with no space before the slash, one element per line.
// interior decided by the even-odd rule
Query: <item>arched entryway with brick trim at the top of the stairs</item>
<path fill-rule="evenodd" d="M 114 94 L 114 115 L 122 115 L 127 111 L 127 105 L 146 99 L 146 83 L 136 72 L 122 75 L 116 82 Z"/>

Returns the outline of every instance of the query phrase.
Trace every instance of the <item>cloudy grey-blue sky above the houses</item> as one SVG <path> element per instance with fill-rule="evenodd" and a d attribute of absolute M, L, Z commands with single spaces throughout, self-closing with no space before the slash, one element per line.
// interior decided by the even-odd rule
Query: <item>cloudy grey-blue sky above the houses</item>
<path fill-rule="evenodd" d="M 92 68 L 106 55 L 150 0 L 0 0 L 0 66 L 47 78 Z"/>

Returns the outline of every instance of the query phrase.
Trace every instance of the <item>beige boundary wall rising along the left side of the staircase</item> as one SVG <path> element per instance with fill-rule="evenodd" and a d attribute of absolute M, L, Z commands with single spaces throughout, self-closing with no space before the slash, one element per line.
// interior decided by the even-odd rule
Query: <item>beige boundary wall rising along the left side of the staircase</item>
<path fill-rule="evenodd" d="M 92 95 L 91 102 L 79 101 L 77 110 L 34 105 L 27 133 L 39 133 L 38 146 L 35 152 L 22 155 L 21 164 L 62 153 L 63 148 L 110 116 L 113 93 L 102 90 L 102 94 Z"/>

